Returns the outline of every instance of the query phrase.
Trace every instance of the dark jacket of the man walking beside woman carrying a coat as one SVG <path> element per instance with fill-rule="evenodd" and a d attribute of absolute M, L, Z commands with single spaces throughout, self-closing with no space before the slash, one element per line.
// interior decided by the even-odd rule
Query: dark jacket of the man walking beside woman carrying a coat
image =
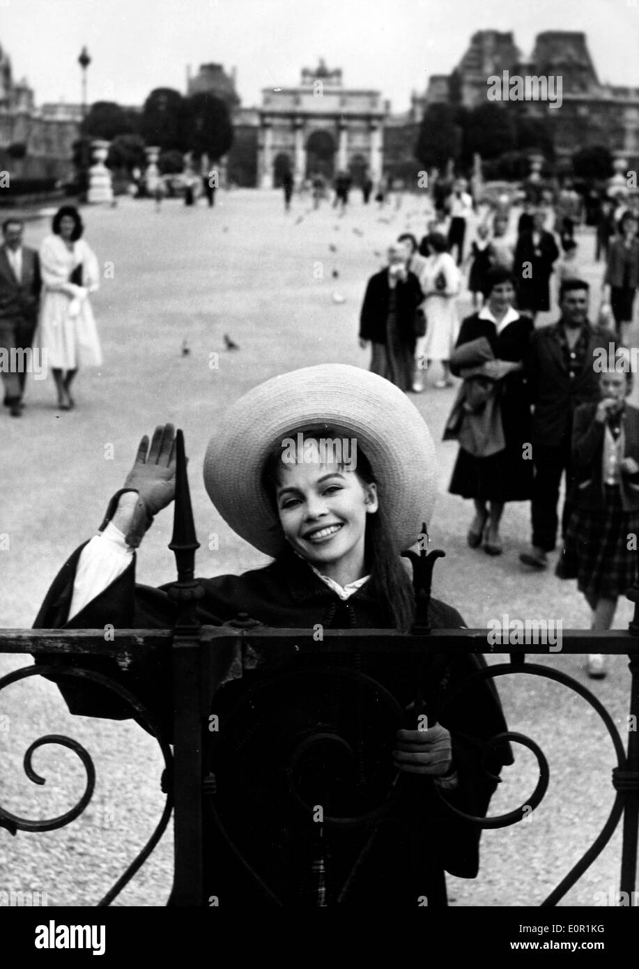
<path fill-rule="evenodd" d="M 599 399 L 594 351 L 610 342 L 609 330 L 592 327 L 581 373 L 572 380 L 563 359 L 560 323 L 535 330 L 527 366 L 533 400 L 533 445 L 569 448 L 572 418 L 580 404 Z"/>

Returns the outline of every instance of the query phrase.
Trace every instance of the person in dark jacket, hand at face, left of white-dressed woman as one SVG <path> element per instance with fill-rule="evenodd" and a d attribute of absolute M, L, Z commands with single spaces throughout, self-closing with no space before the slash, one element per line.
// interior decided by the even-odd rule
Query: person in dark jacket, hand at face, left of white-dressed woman
<path fill-rule="evenodd" d="M 388 250 L 388 266 L 368 281 L 359 323 L 359 344 L 373 345 L 371 371 L 401 391 L 412 388 L 415 313 L 424 295 L 406 265 L 406 247 Z"/>

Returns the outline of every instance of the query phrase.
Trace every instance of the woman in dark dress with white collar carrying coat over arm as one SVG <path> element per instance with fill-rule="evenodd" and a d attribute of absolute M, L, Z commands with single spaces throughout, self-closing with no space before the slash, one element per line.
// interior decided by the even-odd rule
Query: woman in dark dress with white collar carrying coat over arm
<path fill-rule="evenodd" d="M 460 440 L 448 490 L 474 502 L 469 546 L 477 548 L 483 541 L 487 554 L 501 555 L 500 521 L 504 504 L 529 501 L 533 495 L 533 454 L 526 451 L 526 445 L 530 448 L 532 440 L 531 402 L 524 370 L 533 321 L 520 316 L 513 308 L 514 278 L 507 269 L 490 269 L 484 297 L 483 308 L 462 324 L 451 370 L 455 376 L 463 376 L 462 367 L 468 366 L 468 360 L 461 353 L 464 345 L 482 337 L 487 341 L 494 359 L 486 359 L 483 364 L 484 376 L 495 384 L 482 391 L 491 390 L 495 395 L 492 418 L 502 438 L 497 447 L 490 447 L 490 439 L 488 447 L 484 442 L 482 453 L 476 448 L 468 450 Z"/>

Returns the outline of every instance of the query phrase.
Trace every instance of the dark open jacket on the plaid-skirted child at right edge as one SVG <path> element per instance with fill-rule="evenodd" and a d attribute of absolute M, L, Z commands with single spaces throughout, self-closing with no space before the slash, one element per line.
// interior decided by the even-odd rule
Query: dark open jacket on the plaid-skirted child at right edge
<path fill-rule="evenodd" d="M 605 507 L 603 484 L 603 438 L 605 424 L 595 421 L 596 403 L 582 404 L 575 411 L 572 431 L 572 460 L 574 489 L 572 498 L 581 508 Z M 628 404 L 622 416 L 624 428 L 624 457 L 633 457 L 639 464 L 639 411 Z M 621 469 L 620 492 L 624 512 L 639 510 L 639 472 L 630 475 Z"/>

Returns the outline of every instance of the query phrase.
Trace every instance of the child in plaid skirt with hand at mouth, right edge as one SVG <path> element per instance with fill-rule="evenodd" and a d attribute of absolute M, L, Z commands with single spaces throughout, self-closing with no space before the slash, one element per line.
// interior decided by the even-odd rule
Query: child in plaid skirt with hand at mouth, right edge
<path fill-rule="evenodd" d="M 633 584 L 639 534 L 639 410 L 625 400 L 632 390 L 627 351 L 604 361 L 601 399 L 575 411 L 572 458 L 574 511 L 568 522 L 560 578 L 577 578 L 593 610 L 593 629 L 610 629 L 617 599 Z M 605 676 L 605 660 L 593 655 L 589 676 Z"/>

